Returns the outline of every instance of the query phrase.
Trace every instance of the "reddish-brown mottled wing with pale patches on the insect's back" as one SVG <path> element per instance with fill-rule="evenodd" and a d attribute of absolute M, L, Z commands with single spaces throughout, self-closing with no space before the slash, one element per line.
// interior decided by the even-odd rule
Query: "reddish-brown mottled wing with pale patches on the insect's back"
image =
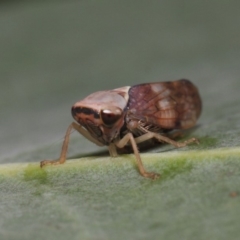
<path fill-rule="evenodd" d="M 162 129 L 194 126 L 201 113 L 201 98 L 189 80 L 139 84 L 129 89 L 129 119 Z"/>

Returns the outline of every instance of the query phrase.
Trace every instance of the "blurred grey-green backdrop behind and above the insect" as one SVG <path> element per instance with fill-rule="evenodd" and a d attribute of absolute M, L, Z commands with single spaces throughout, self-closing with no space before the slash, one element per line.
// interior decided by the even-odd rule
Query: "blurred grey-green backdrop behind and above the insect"
<path fill-rule="evenodd" d="M 72 104 L 98 90 L 188 78 L 203 98 L 203 128 L 215 128 L 228 108 L 237 114 L 239 7 L 213 0 L 1 3 L 0 161 L 60 144 Z M 95 149 L 82 143 L 78 151 Z"/>

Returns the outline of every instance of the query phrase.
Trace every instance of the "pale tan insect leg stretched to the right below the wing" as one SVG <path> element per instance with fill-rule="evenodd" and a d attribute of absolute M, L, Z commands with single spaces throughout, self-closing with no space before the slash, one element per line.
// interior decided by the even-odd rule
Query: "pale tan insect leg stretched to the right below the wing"
<path fill-rule="evenodd" d="M 197 143 L 199 144 L 198 140 L 196 138 L 190 138 L 184 142 L 176 142 L 166 136 L 163 136 L 161 134 L 158 133 L 154 133 L 154 132 L 147 132 L 145 134 L 143 134 L 140 137 L 135 138 L 136 143 L 141 143 L 141 142 L 145 142 L 151 138 L 155 138 L 160 142 L 166 142 L 169 143 L 175 147 L 185 147 L 186 145 L 190 144 L 190 143 Z"/>

